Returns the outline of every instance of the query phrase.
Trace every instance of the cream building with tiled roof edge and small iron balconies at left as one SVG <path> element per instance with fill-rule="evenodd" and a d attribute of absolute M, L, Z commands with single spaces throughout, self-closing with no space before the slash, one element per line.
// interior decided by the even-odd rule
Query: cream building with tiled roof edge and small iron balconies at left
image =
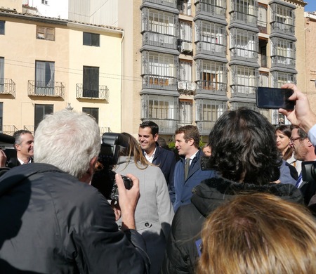
<path fill-rule="evenodd" d="M 1 1 L 2 132 L 34 131 L 44 115 L 65 108 L 93 115 L 101 132 L 121 131 L 122 38 L 117 27 L 43 17 L 22 1 Z"/>

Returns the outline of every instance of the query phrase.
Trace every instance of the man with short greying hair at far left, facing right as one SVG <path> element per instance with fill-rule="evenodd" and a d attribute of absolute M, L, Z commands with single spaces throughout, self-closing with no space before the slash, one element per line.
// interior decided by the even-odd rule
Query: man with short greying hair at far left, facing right
<path fill-rule="evenodd" d="M 21 129 L 13 133 L 13 138 L 15 138 L 14 148 L 17 157 L 9 159 L 8 167 L 32 163 L 34 155 L 34 136 L 32 132 Z"/>

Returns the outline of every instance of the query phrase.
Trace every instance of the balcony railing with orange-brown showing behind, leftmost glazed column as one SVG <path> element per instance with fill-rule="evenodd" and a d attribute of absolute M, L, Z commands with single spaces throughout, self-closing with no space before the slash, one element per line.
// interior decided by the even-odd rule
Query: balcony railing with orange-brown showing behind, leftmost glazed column
<path fill-rule="evenodd" d="M 160 75 L 143 75 L 143 89 L 177 90 L 177 78 Z"/>

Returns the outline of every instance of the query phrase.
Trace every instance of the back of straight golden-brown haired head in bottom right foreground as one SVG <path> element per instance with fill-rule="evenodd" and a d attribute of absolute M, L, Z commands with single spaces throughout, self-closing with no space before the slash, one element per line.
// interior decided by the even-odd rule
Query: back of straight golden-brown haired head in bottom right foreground
<path fill-rule="evenodd" d="M 237 196 L 202 230 L 199 274 L 316 273 L 316 223 L 275 195 Z"/>

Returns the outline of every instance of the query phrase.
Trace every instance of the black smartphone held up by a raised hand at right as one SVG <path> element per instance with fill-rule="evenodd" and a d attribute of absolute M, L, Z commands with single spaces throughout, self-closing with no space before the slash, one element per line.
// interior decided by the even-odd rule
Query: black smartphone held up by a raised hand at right
<path fill-rule="evenodd" d="M 292 89 L 277 89 L 259 86 L 256 88 L 256 104 L 259 108 L 294 110 L 295 100 L 289 100 Z"/>

